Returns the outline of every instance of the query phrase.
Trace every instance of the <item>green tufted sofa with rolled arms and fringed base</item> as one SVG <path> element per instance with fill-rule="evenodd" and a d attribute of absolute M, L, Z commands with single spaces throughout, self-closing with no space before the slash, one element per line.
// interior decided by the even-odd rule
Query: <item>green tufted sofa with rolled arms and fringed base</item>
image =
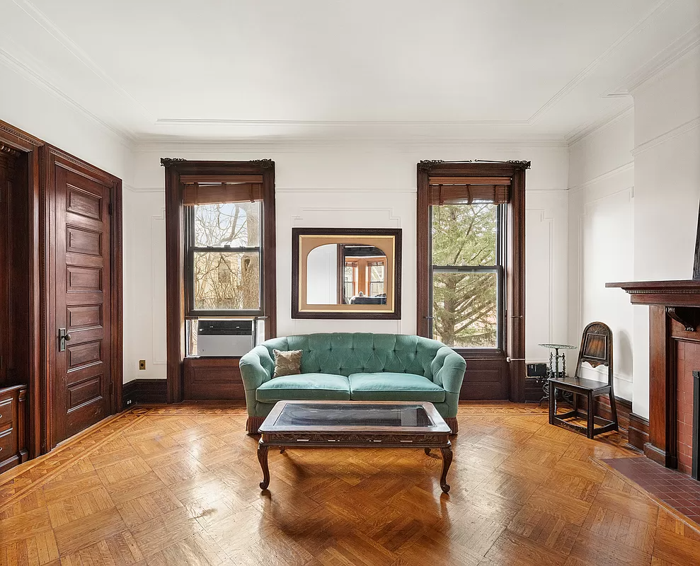
<path fill-rule="evenodd" d="M 276 377 L 272 350 L 302 350 L 302 373 Z M 464 358 L 436 340 L 334 333 L 272 338 L 241 358 L 250 434 L 281 400 L 430 401 L 457 433 Z"/>

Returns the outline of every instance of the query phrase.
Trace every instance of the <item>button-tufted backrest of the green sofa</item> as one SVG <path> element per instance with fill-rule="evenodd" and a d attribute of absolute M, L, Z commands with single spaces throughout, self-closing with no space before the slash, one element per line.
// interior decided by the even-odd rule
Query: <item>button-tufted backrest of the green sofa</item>
<path fill-rule="evenodd" d="M 395 371 L 432 379 L 431 364 L 442 342 L 420 336 L 374 333 L 321 333 L 272 338 L 272 350 L 302 350 L 302 373 L 340 374 Z M 270 368 L 265 368 L 270 370 Z"/>

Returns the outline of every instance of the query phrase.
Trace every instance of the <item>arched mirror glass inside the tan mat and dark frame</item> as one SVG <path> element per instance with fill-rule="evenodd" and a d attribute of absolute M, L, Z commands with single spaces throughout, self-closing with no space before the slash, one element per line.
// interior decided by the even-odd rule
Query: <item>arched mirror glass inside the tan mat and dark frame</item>
<path fill-rule="evenodd" d="M 386 253 L 362 243 L 327 243 L 306 256 L 306 304 L 385 305 Z"/>

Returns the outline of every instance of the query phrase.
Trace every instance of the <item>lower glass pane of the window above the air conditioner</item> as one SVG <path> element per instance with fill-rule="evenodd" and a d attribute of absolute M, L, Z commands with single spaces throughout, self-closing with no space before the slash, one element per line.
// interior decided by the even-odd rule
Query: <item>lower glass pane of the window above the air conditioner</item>
<path fill-rule="evenodd" d="M 193 267 L 197 311 L 260 309 L 258 252 L 196 252 Z"/>

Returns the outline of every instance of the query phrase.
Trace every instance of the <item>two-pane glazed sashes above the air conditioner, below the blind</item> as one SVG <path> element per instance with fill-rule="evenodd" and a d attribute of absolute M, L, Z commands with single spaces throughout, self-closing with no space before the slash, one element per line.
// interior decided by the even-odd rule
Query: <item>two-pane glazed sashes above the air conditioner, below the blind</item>
<path fill-rule="evenodd" d="M 263 203 L 186 207 L 188 316 L 262 315 Z"/>

